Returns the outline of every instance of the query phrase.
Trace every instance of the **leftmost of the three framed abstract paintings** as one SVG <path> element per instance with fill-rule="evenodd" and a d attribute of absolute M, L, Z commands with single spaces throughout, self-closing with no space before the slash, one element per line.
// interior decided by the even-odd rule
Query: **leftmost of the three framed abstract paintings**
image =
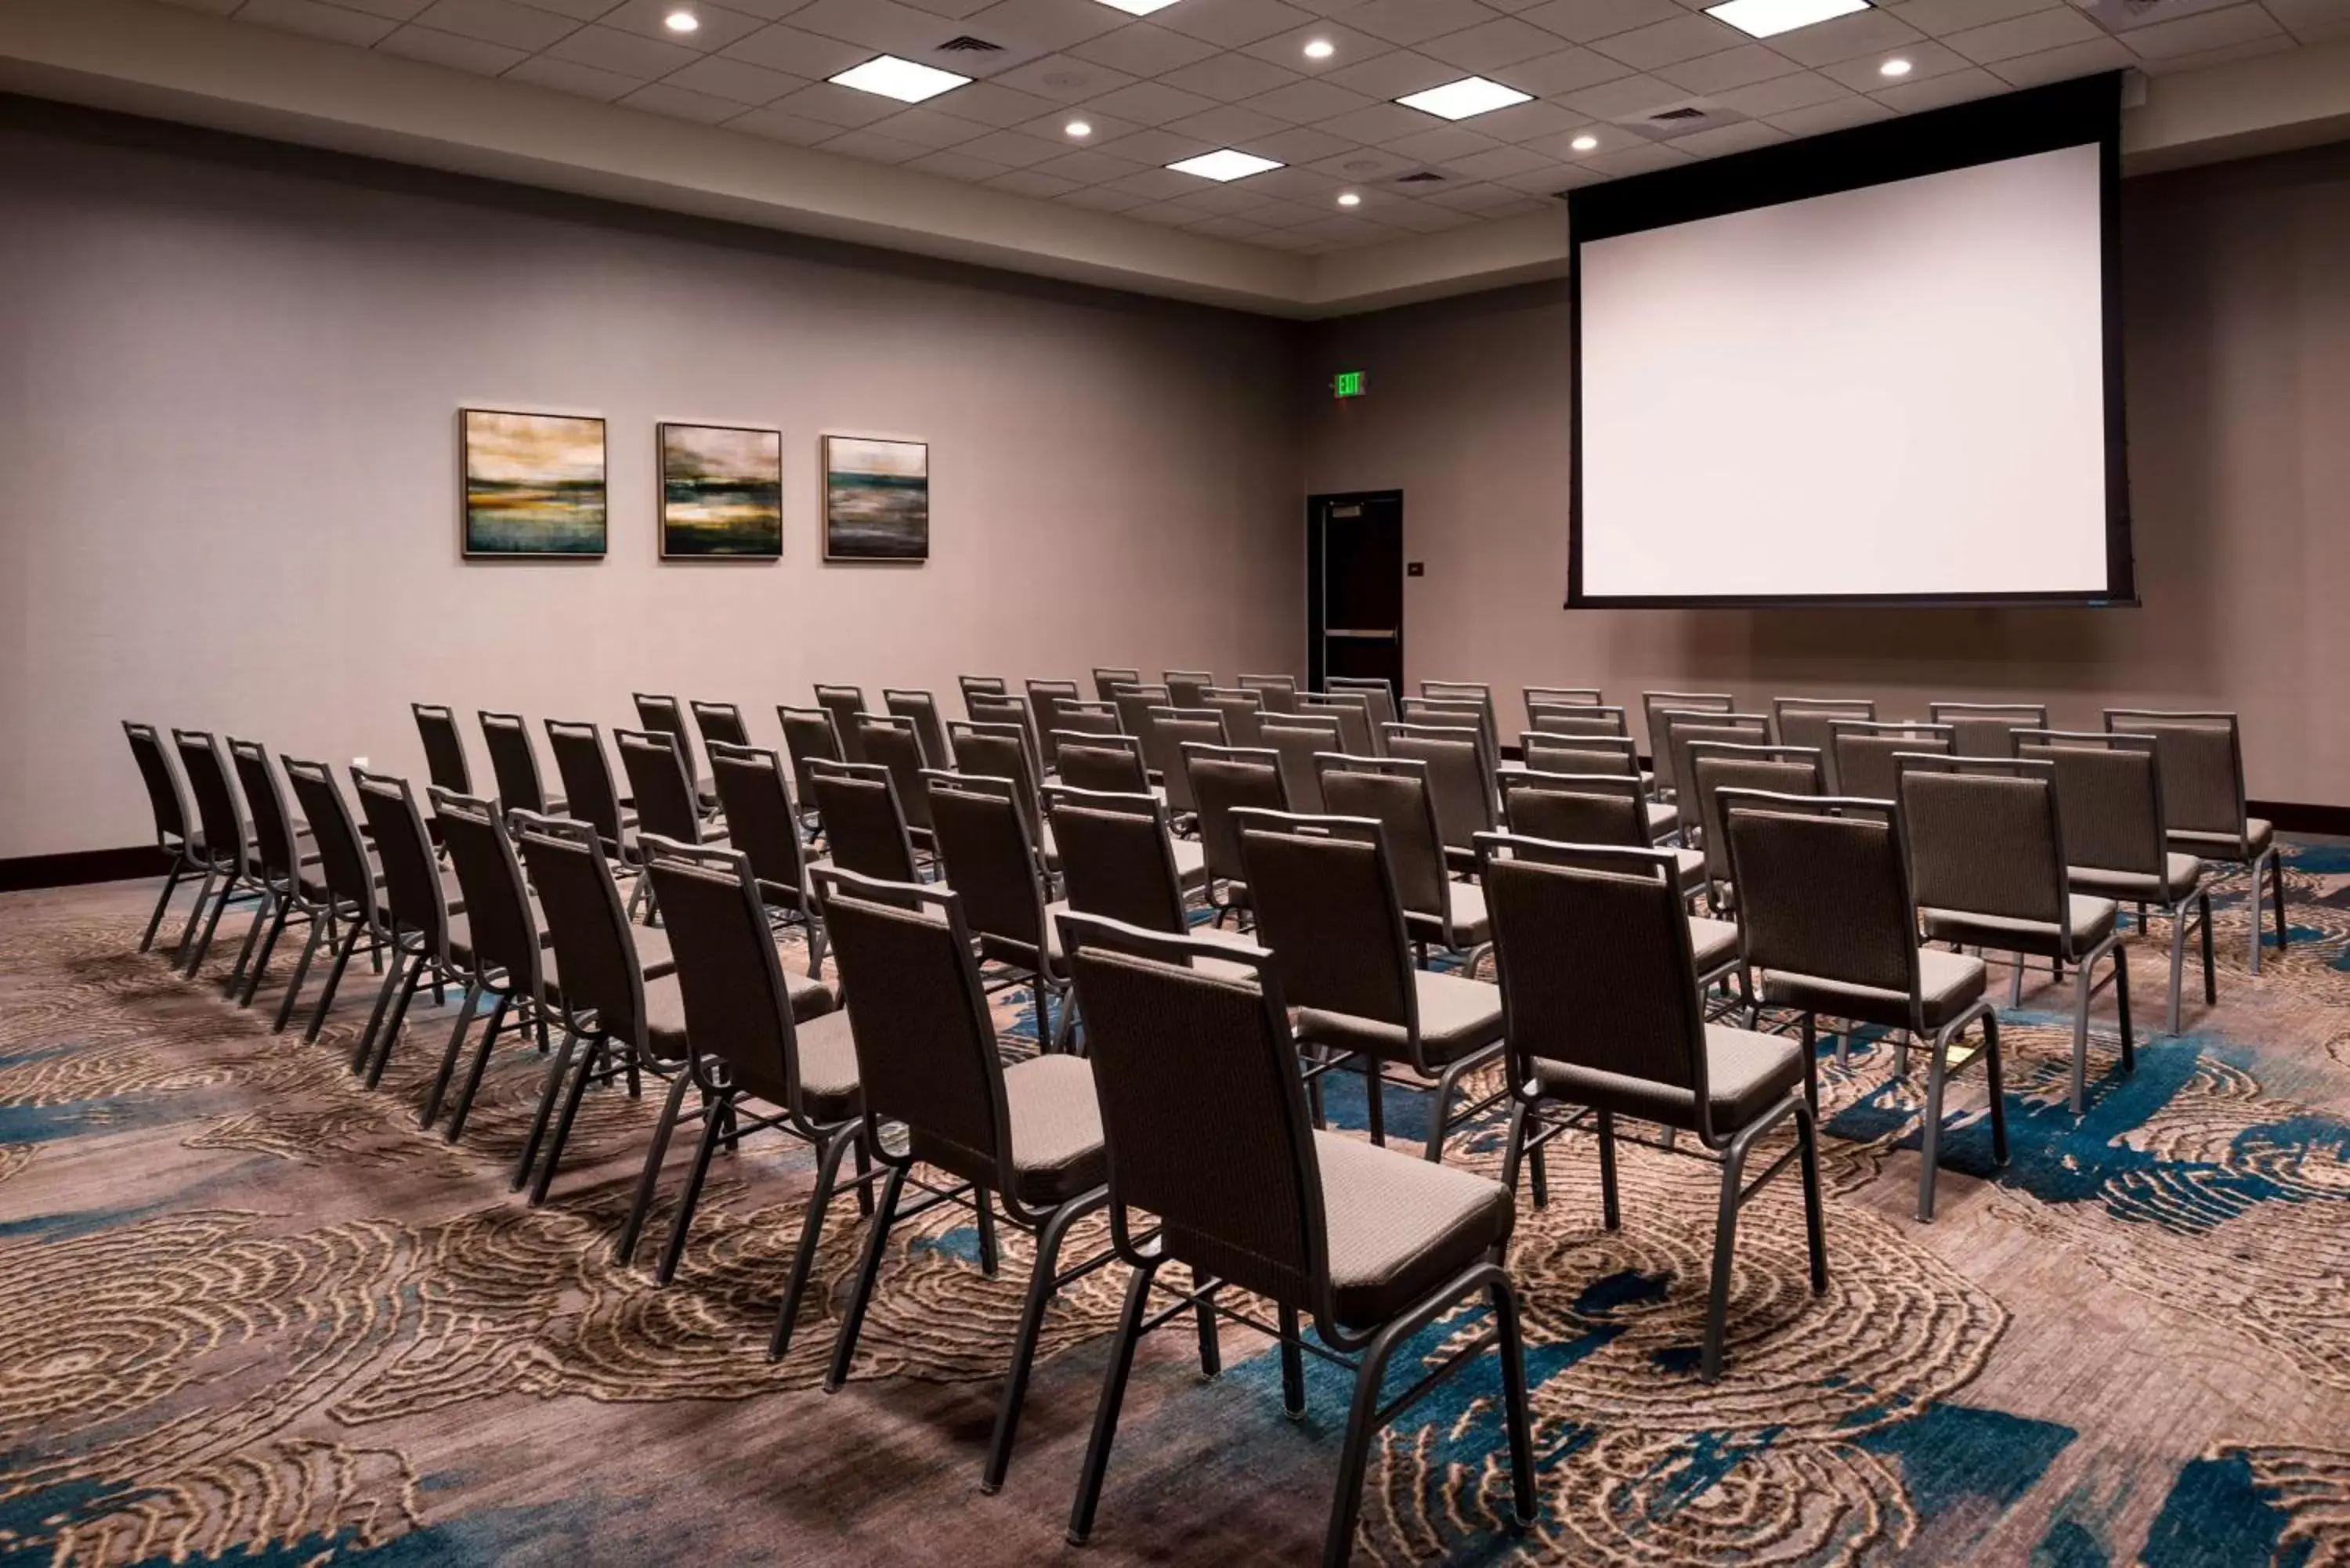
<path fill-rule="evenodd" d="M 465 555 L 604 555 L 604 421 L 463 409 Z"/>

